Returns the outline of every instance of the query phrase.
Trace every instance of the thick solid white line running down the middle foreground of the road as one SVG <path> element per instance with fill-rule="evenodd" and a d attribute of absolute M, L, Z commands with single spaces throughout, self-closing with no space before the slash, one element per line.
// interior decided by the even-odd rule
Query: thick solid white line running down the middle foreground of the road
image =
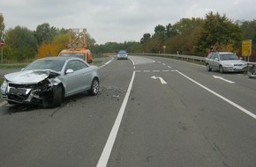
<path fill-rule="evenodd" d="M 118 129 L 120 127 L 121 120 L 122 120 L 123 115 L 124 115 L 124 110 L 125 110 L 125 107 L 127 105 L 127 102 L 128 102 L 131 90 L 132 90 L 132 84 L 133 84 L 133 81 L 134 81 L 134 77 L 135 77 L 135 71 L 133 71 L 133 73 L 132 73 L 132 79 L 131 79 L 131 82 L 129 84 L 128 90 L 125 94 L 123 104 L 121 105 L 121 108 L 120 108 L 119 113 L 117 115 L 117 119 L 115 121 L 115 124 L 112 127 L 112 130 L 109 134 L 108 141 L 106 142 L 106 145 L 105 145 L 105 147 L 102 151 L 102 156 L 100 157 L 100 160 L 97 164 L 97 167 L 107 166 L 107 163 L 109 161 L 109 156 L 110 156 L 111 150 L 113 148 L 114 142 L 116 140 L 117 132 L 118 132 Z"/>

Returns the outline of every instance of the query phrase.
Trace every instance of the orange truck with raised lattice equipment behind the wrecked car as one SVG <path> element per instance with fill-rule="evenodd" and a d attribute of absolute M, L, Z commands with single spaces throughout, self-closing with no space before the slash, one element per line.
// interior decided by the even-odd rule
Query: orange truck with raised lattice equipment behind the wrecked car
<path fill-rule="evenodd" d="M 74 28 L 69 30 L 69 43 L 66 49 L 62 50 L 58 56 L 79 57 L 88 63 L 93 62 L 92 52 L 88 49 L 86 40 L 87 29 Z"/>

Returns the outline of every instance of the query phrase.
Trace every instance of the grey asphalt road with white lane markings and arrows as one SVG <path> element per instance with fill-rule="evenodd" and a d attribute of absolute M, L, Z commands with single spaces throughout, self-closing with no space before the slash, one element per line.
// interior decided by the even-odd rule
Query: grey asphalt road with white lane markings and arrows
<path fill-rule="evenodd" d="M 109 57 L 101 91 L 60 107 L 0 102 L 0 166 L 255 166 L 256 80 Z"/>

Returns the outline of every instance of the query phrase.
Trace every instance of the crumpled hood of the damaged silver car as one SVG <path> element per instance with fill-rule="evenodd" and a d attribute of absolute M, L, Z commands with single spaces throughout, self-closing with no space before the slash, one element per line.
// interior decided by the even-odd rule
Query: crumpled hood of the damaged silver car
<path fill-rule="evenodd" d="M 26 70 L 7 74 L 4 77 L 13 83 L 37 84 L 52 73 L 59 74 L 53 70 Z"/>

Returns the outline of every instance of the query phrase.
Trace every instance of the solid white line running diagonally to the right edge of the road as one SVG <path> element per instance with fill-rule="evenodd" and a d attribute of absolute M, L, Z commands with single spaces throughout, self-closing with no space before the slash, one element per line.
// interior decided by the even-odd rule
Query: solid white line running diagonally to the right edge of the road
<path fill-rule="evenodd" d="M 246 110 L 244 107 L 242 107 L 242 106 L 240 106 L 240 105 L 237 105 L 236 103 L 232 102 L 232 101 L 231 101 L 230 99 L 228 99 L 228 98 L 222 97 L 222 95 L 216 93 L 215 91 L 212 91 L 212 90 L 208 89 L 206 86 L 204 86 L 204 85 L 202 85 L 202 84 L 196 82 L 195 80 L 193 80 L 193 79 L 190 78 L 189 76 L 185 76 L 182 72 L 179 72 L 178 70 L 172 70 L 172 71 L 176 71 L 176 72 L 179 73 L 180 75 L 182 75 L 182 76 L 186 77 L 187 79 L 191 80 L 194 84 L 198 84 L 198 85 L 199 85 L 200 87 L 202 87 L 203 89 L 205 89 L 205 90 L 207 90 L 207 91 L 213 93 L 216 97 L 222 98 L 222 100 L 228 102 L 230 105 L 235 106 L 237 109 L 239 109 L 239 110 L 241 110 L 242 112 L 244 112 L 244 113 L 250 115 L 253 119 L 256 119 L 256 115 L 255 115 L 254 113 L 252 113 L 252 112 L 249 112 L 249 111 Z"/>

